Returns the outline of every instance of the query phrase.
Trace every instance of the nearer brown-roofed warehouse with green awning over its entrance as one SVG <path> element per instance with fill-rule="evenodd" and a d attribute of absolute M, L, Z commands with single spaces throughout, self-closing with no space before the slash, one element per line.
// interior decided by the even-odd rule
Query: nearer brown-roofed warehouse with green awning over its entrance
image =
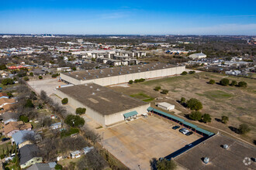
<path fill-rule="evenodd" d="M 147 113 L 147 107 L 150 107 L 149 103 L 95 83 L 61 87 L 56 94 L 67 97 L 68 103 L 74 107 L 85 107 L 85 114 L 104 127 L 136 118 Z"/>

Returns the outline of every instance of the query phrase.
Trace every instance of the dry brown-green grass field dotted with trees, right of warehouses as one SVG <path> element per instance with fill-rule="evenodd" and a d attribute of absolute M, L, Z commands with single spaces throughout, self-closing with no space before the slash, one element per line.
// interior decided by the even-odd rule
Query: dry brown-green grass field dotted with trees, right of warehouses
<path fill-rule="evenodd" d="M 230 81 L 245 81 L 247 87 L 221 86 L 218 82 L 224 77 Z M 216 83 L 209 84 L 208 82 L 211 79 L 215 80 Z M 160 93 L 161 90 L 155 91 L 154 87 L 157 86 L 169 90 L 168 94 Z M 209 123 L 210 126 L 220 128 L 251 143 L 256 142 L 256 80 L 254 79 L 202 72 L 186 76 L 147 80 L 143 83 L 134 83 L 128 88 L 111 88 L 140 100 L 145 100 L 145 95 L 154 98 L 154 100 L 151 100 L 151 104 L 161 101 L 175 104 L 175 108 L 182 111 L 180 114 L 182 116 L 190 114 L 190 111 L 178 104 L 177 100 L 180 100 L 181 97 L 185 97 L 186 100 L 196 98 L 202 102 L 202 114 L 211 114 L 212 122 Z M 156 98 L 158 100 L 155 100 Z M 227 124 L 222 124 L 219 121 L 223 115 L 230 119 Z M 238 128 L 242 123 L 250 126 L 251 131 L 248 134 L 239 135 L 230 130 L 232 127 Z"/>

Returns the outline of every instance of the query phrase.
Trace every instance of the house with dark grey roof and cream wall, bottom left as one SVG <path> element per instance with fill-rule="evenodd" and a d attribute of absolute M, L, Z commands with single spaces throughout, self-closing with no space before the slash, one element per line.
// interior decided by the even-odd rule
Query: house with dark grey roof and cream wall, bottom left
<path fill-rule="evenodd" d="M 43 158 L 40 157 L 39 148 L 36 145 L 25 145 L 19 149 L 19 165 L 20 168 L 26 168 L 36 163 L 43 162 Z"/>

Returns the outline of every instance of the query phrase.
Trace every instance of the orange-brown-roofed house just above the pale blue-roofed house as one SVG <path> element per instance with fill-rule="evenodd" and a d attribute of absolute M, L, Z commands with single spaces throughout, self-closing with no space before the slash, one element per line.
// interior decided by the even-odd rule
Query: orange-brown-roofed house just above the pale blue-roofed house
<path fill-rule="evenodd" d="M 4 125 L 5 135 L 11 137 L 17 131 L 31 131 L 32 125 L 29 123 L 24 124 L 22 121 L 11 121 Z"/>

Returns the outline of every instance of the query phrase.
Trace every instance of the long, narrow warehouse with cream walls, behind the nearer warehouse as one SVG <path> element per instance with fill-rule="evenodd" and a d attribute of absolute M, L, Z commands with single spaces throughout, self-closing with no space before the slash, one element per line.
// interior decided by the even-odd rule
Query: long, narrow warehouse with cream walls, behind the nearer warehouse
<path fill-rule="evenodd" d="M 96 83 L 101 86 L 126 83 L 136 79 L 150 79 L 172 76 L 185 71 L 185 66 L 174 66 L 166 63 L 148 63 L 134 66 L 118 66 L 101 70 L 83 70 L 61 73 L 61 79 L 74 85 Z"/>

